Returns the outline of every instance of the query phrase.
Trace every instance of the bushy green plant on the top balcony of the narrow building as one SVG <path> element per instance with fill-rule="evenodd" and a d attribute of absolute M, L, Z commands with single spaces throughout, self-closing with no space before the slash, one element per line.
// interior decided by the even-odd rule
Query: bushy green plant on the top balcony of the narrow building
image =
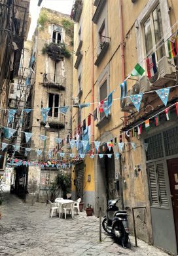
<path fill-rule="evenodd" d="M 50 58 L 54 61 L 60 61 L 63 56 L 65 58 L 70 58 L 71 53 L 69 53 L 66 45 L 64 43 L 45 43 L 45 46 L 42 49 L 42 53 L 47 53 Z"/>

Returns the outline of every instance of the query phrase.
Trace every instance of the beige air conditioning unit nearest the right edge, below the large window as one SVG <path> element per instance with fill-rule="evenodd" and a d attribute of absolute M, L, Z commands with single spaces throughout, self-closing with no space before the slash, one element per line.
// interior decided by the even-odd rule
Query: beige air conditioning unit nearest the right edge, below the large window
<path fill-rule="evenodd" d="M 150 79 L 152 89 L 160 88 L 168 83 L 169 78 L 175 78 L 174 60 L 168 59 L 166 56 L 162 57 L 157 66 L 157 72 Z"/>

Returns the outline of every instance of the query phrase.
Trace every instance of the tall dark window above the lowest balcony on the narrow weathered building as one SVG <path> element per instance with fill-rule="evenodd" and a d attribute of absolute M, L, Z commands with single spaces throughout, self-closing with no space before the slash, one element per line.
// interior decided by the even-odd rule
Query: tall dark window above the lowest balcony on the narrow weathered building
<path fill-rule="evenodd" d="M 48 95 L 48 108 L 50 108 L 50 111 L 48 113 L 48 116 L 51 117 L 58 117 L 60 106 L 60 95 L 54 95 L 53 93 L 49 93 Z"/>

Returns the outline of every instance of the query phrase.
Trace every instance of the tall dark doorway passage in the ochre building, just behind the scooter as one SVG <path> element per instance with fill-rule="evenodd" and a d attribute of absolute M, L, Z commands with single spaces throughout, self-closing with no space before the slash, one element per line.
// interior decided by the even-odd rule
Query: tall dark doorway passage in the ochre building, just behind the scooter
<path fill-rule="evenodd" d="M 106 181 L 106 198 L 108 200 L 115 198 L 115 156 L 113 155 L 114 151 L 111 148 L 105 152 L 105 181 Z M 111 158 L 107 154 L 112 154 Z"/>

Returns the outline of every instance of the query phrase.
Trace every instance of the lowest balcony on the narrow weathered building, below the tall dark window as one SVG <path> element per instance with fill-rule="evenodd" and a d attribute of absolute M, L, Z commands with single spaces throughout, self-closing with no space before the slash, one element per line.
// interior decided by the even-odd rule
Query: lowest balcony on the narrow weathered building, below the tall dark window
<path fill-rule="evenodd" d="M 62 129 L 65 127 L 65 116 L 59 112 L 49 112 L 46 121 L 48 122 L 50 128 Z"/>

